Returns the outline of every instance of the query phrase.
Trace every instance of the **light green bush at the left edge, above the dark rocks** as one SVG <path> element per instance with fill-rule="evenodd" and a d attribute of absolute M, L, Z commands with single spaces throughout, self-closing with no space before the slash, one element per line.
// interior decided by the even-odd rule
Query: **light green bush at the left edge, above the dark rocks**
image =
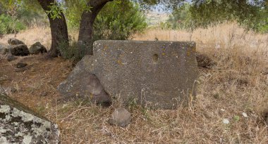
<path fill-rule="evenodd" d="M 23 22 L 12 18 L 10 15 L 0 15 L 0 34 L 9 34 L 25 29 L 26 25 Z"/>

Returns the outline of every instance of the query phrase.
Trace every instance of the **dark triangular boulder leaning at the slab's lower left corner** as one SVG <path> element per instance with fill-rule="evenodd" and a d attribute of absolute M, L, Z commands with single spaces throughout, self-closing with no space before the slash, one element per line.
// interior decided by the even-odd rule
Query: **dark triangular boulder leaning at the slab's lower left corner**
<path fill-rule="evenodd" d="M 57 89 L 62 96 L 67 98 L 83 98 L 104 107 L 111 105 L 111 96 L 104 91 L 99 79 L 95 74 L 83 69 L 73 70 Z"/>

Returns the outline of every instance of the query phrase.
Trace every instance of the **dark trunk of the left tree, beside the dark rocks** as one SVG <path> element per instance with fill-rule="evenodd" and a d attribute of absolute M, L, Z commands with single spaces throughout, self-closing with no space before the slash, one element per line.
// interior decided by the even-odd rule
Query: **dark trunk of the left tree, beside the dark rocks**
<path fill-rule="evenodd" d="M 44 11 L 49 11 L 51 3 L 54 3 L 54 0 L 38 0 L 39 4 L 42 6 Z M 64 14 L 61 13 L 61 18 L 51 18 L 50 14 L 47 13 L 49 17 L 49 24 L 51 30 L 51 48 L 49 50 L 48 55 L 51 57 L 56 57 L 61 55 L 59 51 L 59 46 L 62 44 L 63 46 L 68 46 L 68 30 L 66 25 L 66 19 Z"/>

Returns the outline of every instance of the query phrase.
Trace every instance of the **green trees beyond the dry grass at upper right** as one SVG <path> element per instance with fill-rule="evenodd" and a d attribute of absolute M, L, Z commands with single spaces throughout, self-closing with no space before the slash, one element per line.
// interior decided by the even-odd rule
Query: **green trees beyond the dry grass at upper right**
<path fill-rule="evenodd" d="M 255 0 L 254 4 L 250 4 L 247 0 L 206 0 L 176 8 L 169 23 L 173 29 L 194 30 L 197 27 L 236 21 L 247 30 L 267 32 L 267 18 L 267 6 L 262 1 Z"/>

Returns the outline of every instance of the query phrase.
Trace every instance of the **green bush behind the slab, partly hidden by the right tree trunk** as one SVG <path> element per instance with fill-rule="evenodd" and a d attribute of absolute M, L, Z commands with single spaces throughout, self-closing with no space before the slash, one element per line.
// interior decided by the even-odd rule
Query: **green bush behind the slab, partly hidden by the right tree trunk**
<path fill-rule="evenodd" d="M 74 2 L 66 11 L 69 28 L 79 29 L 82 5 L 80 1 Z M 111 1 L 97 15 L 93 39 L 129 39 L 146 27 L 145 17 L 137 4 L 131 1 Z"/>

